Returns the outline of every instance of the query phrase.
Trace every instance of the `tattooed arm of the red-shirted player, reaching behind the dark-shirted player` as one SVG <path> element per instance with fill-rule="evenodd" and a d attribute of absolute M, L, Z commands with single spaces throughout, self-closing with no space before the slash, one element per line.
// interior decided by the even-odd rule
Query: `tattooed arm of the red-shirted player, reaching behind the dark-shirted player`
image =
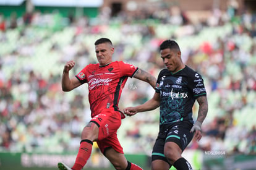
<path fill-rule="evenodd" d="M 149 74 L 148 72 L 139 69 L 137 72 L 134 74 L 135 79 L 142 80 L 144 82 L 147 82 L 155 89 L 156 86 L 156 79 L 153 77 L 153 75 Z"/>

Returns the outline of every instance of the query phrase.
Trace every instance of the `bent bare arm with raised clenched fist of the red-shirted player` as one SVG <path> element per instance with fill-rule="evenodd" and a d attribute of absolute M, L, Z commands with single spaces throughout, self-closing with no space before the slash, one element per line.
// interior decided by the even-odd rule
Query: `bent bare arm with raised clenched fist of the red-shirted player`
<path fill-rule="evenodd" d="M 61 87 L 62 87 L 63 91 L 70 91 L 70 90 L 73 90 L 74 88 L 82 85 L 82 83 L 80 83 L 76 77 L 69 79 L 69 71 L 74 66 L 75 66 L 74 61 L 66 62 L 65 66 L 64 66 L 62 79 L 61 79 Z"/>

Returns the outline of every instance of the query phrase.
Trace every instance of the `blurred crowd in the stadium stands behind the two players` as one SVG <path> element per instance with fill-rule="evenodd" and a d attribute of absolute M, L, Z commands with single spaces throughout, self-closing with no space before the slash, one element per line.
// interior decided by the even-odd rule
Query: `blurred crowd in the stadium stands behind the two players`
<path fill-rule="evenodd" d="M 135 64 L 157 76 L 164 68 L 158 46 L 165 39 L 181 45 L 186 64 L 202 74 L 209 111 L 203 138 L 188 150 L 256 153 L 256 15 L 214 9 L 190 22 L 178 7 L 121 12 L 96 19 L 33 12 L 0 18 L 0 151 L 77 151 L 80 132 L 90 120 L 87 85 L 64 93 L 61 74 L 68 60 L 72 75 L 96 63 L 93 43 L 113 41 L 114 60 Z M 141 104 L 154 91 L 129 79 L 119 108 Z M 194 106 L 195 118 L 198 105 Z M 123 119 L 119 139 L 125 153 L 151 152 L 158 132 L 158 110 Z"/>

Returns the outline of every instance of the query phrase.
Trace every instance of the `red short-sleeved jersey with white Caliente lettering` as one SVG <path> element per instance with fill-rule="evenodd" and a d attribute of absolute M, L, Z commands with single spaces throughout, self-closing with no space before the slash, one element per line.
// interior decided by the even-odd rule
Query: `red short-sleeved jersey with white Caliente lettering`
<path fill-rule="evenodd" d="M 107 66 L 89 64 L 75 75 L 81 83 L 88 83 L 89 103 L 92 117 L 105 109 L 119 111 L 118 102 L 122 89 L 138 68 L 122 61 L 114 61 Z"/>

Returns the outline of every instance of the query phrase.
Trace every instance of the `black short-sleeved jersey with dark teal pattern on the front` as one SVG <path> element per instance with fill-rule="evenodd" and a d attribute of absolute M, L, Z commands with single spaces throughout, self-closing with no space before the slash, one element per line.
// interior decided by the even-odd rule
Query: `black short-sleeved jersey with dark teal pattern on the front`
<path fill-rule="evenodd" d="M 188 120 L 193 123 L 192 107 L 198 96 L 207 92 L 200 74 L 188 66 L 172 74 L 161 70 L 156 82 L 156 93 L 160 93 L 160 126 Z"/>

